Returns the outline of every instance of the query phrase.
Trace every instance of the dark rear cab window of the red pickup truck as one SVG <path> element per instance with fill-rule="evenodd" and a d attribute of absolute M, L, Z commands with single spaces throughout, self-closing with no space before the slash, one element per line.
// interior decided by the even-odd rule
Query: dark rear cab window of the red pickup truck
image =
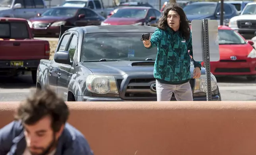
<path fill-rule="evenodd" d="M 25 39 L 29 32 L 25 22 L 0 22 L 0 38 Z"/>

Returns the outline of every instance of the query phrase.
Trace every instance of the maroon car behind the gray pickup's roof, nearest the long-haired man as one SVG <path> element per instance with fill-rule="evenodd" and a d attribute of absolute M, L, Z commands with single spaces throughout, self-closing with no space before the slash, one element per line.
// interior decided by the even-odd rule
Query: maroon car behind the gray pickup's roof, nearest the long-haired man
<path fill-rule="evenodd" d="M 145 6 L 120 8 L 114 15 L 105 19 L 101 25 L 150 25 L 157 26 L 161 12 Z"/>

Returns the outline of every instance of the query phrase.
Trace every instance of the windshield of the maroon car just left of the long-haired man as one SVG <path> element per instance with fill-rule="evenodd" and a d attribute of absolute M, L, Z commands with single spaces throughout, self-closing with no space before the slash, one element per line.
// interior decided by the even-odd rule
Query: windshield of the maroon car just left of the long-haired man
<path fill-rule="evenodd" d="M 147 9 L 118 9 L 118 11 L 111 15 L 116 18 L 145 18 Z"/>

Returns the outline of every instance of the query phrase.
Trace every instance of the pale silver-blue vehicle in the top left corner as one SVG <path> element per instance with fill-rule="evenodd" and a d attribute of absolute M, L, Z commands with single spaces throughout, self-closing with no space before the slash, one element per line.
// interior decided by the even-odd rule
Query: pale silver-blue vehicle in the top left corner
<path fill-rule="evenodd" d="M 44 0 L 1 0 L 0 17 L 30 19 L 47 10 Z"/>

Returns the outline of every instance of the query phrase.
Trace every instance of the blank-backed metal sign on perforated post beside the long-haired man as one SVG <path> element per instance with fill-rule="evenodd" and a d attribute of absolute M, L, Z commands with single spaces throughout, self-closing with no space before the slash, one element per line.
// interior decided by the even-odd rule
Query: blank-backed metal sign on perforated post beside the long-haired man
<path fill-rule="evenodd" d="M 205 64 L 207 78 L 206 97 L 208 101 L 211 101 L 210 58 L 211 61 L 219 61 L 218 22 L 208 19 L 193 20 L 191 27 L 193 59 Z"/>

